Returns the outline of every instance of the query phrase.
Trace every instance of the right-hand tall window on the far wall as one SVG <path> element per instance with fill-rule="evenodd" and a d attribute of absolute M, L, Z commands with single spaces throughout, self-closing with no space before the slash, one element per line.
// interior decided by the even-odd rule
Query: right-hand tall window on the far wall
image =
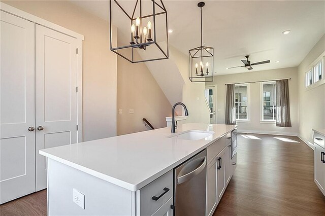
<path fill-rule="evenodd" d="M 262 121 L 275 121 L 276 91 L 275 81 L 262 83 Z"/>

